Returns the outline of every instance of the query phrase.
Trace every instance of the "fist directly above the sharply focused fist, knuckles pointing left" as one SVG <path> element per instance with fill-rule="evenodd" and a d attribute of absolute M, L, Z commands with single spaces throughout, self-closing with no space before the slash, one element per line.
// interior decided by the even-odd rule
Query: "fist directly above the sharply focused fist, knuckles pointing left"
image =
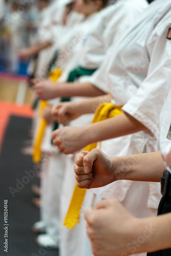
<path fill-rule="evenodd" d="M 84 127 L 63 127 L 51 135 L 53 144 L 64 154 L 73 154 L 87 145 Z M 89 143 L 88 143 L 89 144 Z"/>

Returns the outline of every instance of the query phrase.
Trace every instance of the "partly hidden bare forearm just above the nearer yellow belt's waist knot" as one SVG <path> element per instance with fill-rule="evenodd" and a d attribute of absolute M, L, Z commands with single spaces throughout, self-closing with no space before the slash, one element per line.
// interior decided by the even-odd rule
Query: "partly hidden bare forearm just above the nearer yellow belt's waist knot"
<path fill-rule="evenodd" d="M 90 114 L 94 113 L 101 103 L 110 101 L 111 96 L 109 94 L 105 94 L 103 96 L 93 97 L 75 103 L 77 104 L 77 108 L 81 110 L 81 114 Z"/>

